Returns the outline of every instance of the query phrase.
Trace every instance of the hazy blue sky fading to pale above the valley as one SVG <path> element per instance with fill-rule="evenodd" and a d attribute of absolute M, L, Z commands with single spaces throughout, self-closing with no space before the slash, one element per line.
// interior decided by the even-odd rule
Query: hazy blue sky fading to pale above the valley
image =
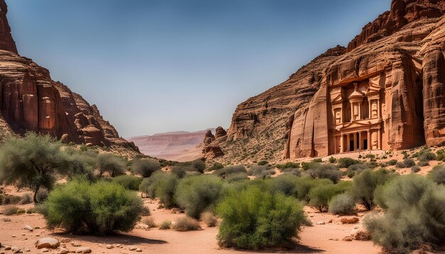
<path fill-rule="evenodd" d="M 124 137 L 230 125 L 390 0 L 6 0 L 21 55 Z"/>

